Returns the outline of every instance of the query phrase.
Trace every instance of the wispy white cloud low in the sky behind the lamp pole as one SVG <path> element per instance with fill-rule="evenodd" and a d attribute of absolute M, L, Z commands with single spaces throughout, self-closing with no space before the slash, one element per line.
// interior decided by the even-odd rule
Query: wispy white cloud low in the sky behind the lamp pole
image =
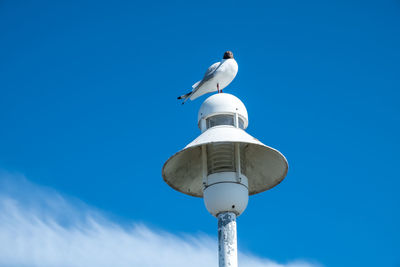
<path fill-rule="evenodd" d="M 217 266 L 216 241 L 178 236 L 141 224 L 121 226 L 79 200 L 0 173 L 1 266 Z M 315 267 L 278 264 L 248 254 L 241 267 Z"/>

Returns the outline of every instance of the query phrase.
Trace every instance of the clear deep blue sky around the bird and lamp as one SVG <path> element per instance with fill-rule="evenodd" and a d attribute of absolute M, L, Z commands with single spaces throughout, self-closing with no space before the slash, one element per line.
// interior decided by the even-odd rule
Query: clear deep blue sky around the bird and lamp
<path fill-rule="evenodd" d="M 400 266 L 398 1 L 2 1 L 0 25 L 0 169 L 13 184 L 2 207 L 11 198 L 24 214 L 53 201 L 48 189 L 121 229 L 216 238 L 202 200 L 169 188 L 161 168 L 200 133 L 207 96 L 176 96 L 232 50 L 239 72 L 225 92 L 290 165 L 250 198 L 240 251 Z"/>

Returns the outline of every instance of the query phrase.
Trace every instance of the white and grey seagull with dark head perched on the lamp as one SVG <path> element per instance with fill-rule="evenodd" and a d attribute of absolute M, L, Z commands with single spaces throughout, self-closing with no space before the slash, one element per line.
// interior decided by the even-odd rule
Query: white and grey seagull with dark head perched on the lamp
<path fill-rule="evenodd" d="M 192 85 L 192 91 L 181 95 L 178 99 L 183 99 L 184 104 L 188 99 L 195 100 L 199 96 L 218 91 L 222 93 L 228 84 L 232 82 L 238 71 L 238 65 L 233 58 L 231 51 L 226 51 L 221 62 L 212 64 L 204 74 L 201 81 Z"/>

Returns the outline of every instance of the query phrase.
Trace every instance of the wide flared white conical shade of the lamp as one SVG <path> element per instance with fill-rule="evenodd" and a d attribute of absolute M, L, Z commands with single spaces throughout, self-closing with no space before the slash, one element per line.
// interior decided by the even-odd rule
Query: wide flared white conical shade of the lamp
<path fill-rule="evenodd" d="M 268 147 L 242 129 L 216 126 L 208 129 L 164 164 L 162 176 L 172 188 L 196 197 L 203 196 L 202 145 L 239 143 L 243 166 L 249 179 L 249 194 L 257 194 L 279 184 L 286 176 L 288 163 L 277 150 Z"/>

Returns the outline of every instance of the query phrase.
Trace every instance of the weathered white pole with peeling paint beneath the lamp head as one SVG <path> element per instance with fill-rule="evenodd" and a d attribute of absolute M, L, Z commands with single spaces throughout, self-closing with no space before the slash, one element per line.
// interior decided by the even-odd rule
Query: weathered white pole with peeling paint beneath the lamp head
<path fill-rule="evenodd" d="M 237 267 L 236 214 L 218 214 L 219 267 Z"/>

